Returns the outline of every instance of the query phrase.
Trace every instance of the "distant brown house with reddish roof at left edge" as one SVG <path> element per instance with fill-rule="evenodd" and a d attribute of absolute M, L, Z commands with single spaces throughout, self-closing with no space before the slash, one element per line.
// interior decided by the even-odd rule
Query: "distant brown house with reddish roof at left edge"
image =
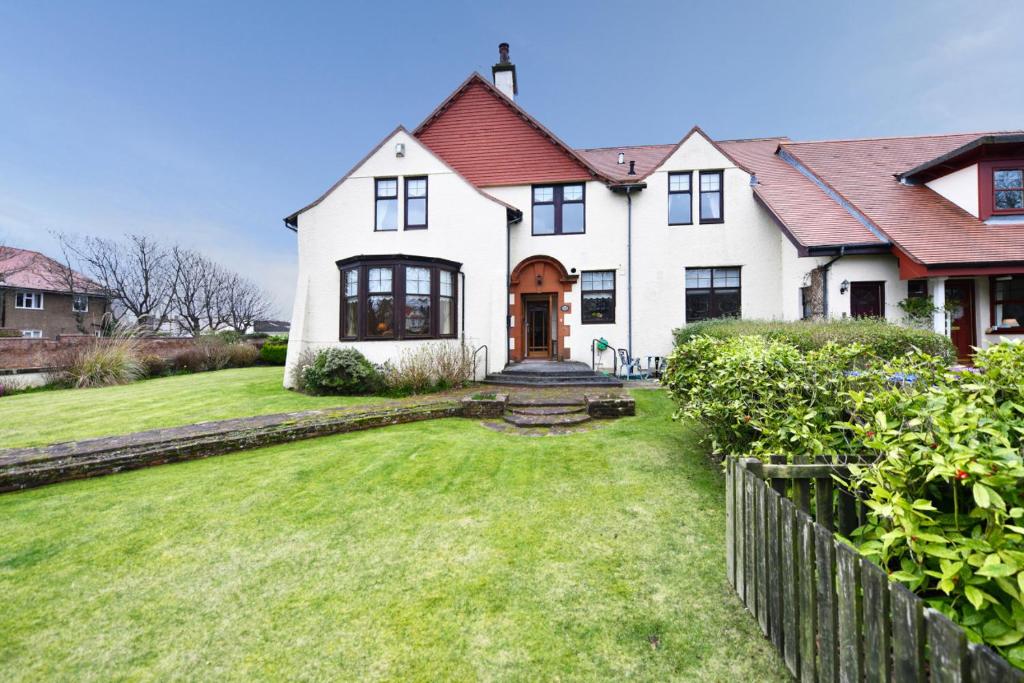
<path fill-rule="evenodd" d="M 97 335 L 109 310 L 110 297 L 85 275 L 39 252 L 0 247 L 0 330 Z"/>

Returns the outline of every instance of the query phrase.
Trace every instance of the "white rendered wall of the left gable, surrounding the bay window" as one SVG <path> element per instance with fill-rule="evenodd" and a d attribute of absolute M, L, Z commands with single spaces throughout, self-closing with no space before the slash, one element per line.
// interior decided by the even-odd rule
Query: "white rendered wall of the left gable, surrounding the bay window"
<path fill-rule="evenodd" d="M 406 155 L 395 156 L 396 142 Z M 428 177 L 427 229 L 403 230 L 402 176 Z M 399 178 L 398 226 L 374 230 L 374 178 Z M 460 279 L 461 331 L 465 305 L 465 340 L 475 347 L 487 344 L 490 368 L 505 361 L 505 230 L 506 209 L 490 200 L 433 156 L 404 131 L 396 132 L 321 204 L 299 216 L 299 272 L 292 332 L 288 348 L 286 386 L 299 354 L 308 348 L 354 346 L 375 362 L 430 341 L 340 342 L 341 275 L 336 261 L 357 255 L 406 254 L 462 263 Z M 481 356 L 482 362 L 482 356 Z"/>

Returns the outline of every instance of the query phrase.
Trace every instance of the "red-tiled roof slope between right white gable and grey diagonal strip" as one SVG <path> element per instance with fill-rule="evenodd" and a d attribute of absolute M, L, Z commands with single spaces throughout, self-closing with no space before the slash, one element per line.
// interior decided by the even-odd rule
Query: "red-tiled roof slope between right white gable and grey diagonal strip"
<path fill-rule="evenodd" d="M 727 140 L 719 146 L 757 177 L 754 195 L 800 247 L 885 246 L 866 225 L 775 152 L 787 138 Z"/>

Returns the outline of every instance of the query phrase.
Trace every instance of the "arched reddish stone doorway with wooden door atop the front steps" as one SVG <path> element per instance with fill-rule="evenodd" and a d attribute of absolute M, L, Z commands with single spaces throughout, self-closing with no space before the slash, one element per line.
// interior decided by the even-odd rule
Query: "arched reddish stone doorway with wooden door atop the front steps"
<path fill-rule="evenodd" d="M 578 275 L 551 256 L 530 256 L 512 269 L 509 286 L 509 356 L 513 360 L 568 360 L 565 301 Z"/>

